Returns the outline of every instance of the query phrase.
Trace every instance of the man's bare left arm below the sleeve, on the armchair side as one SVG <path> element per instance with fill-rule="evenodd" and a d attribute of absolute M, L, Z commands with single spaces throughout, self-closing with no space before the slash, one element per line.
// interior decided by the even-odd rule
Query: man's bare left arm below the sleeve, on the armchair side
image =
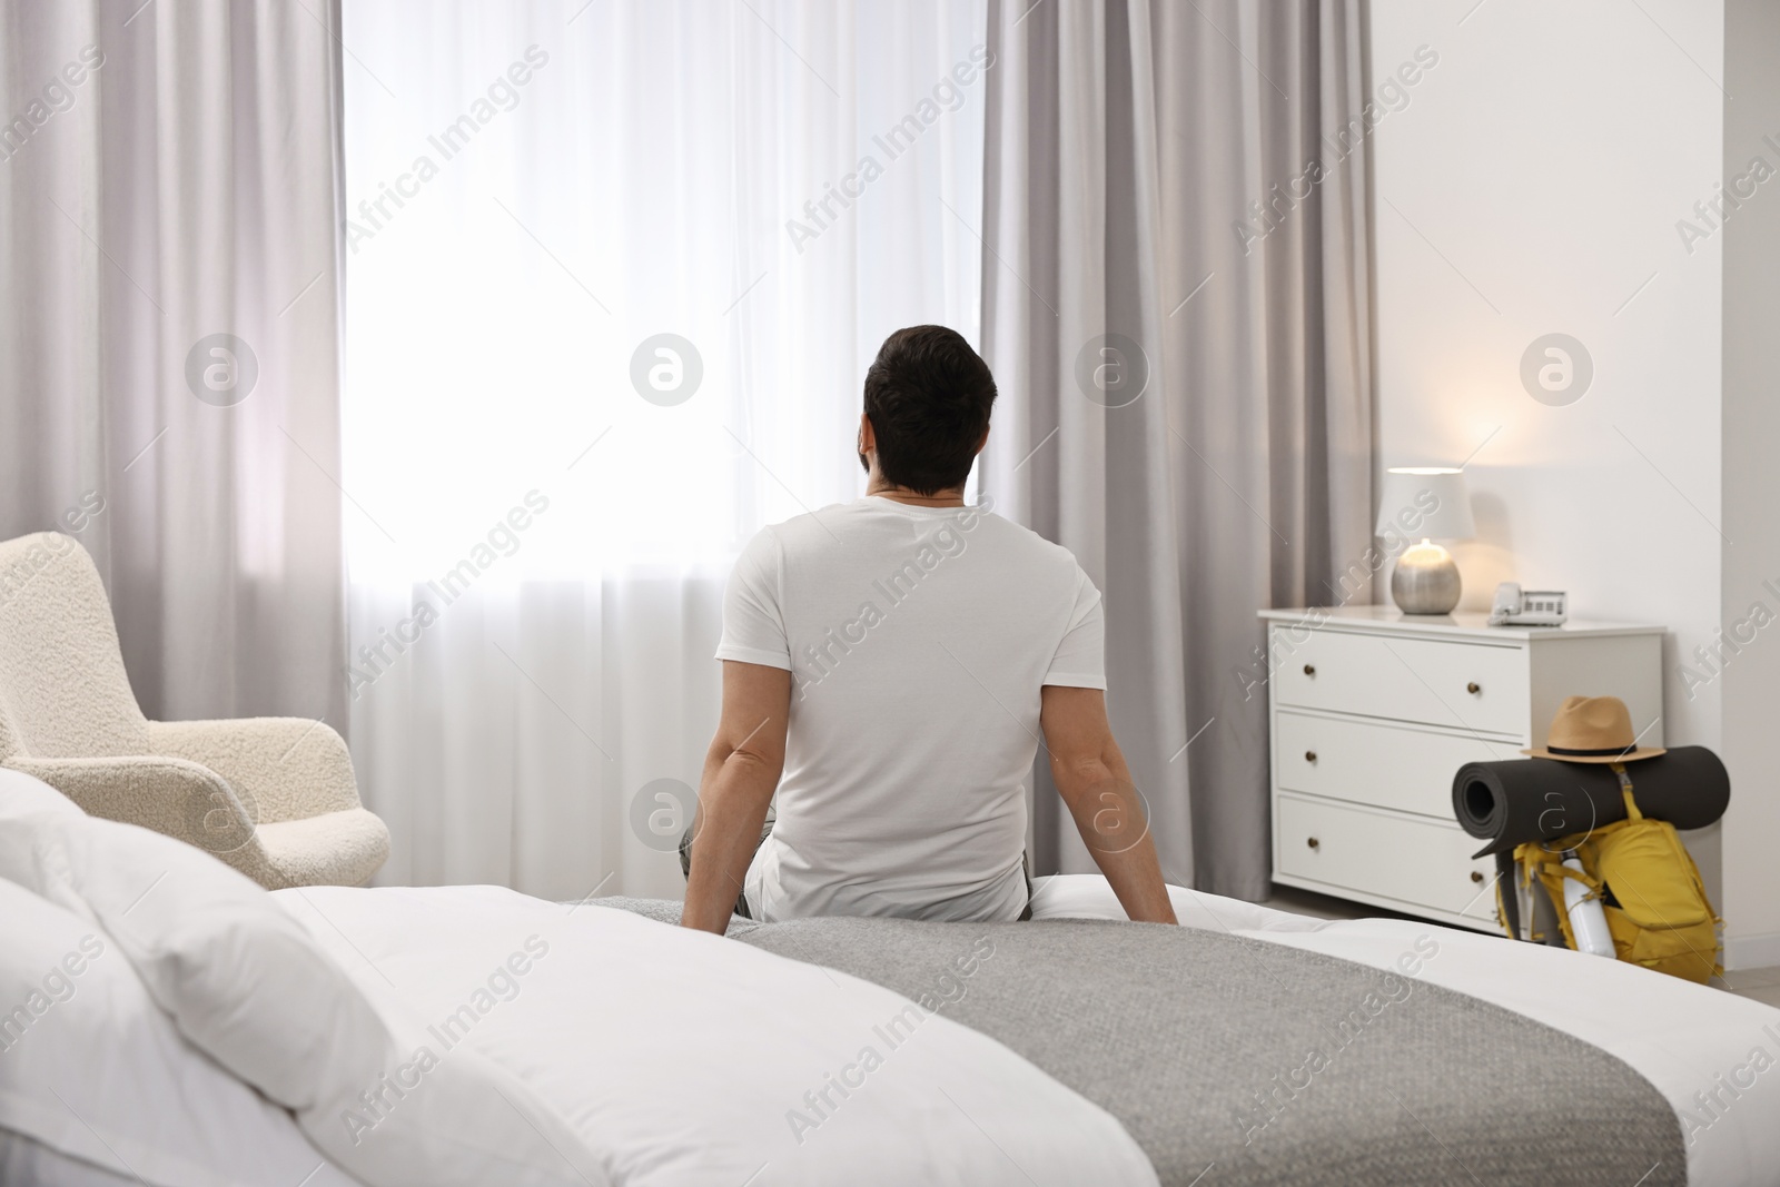
<path fill-rule="evenodd" d="M 730 925 L 735 897 L 760 842 L 767 804 L 785 771 L 790 673 L 764 664 L 723 662 L 723 717 L 705 755 L 692 820 L 692 870 L 682 927 Z"/>

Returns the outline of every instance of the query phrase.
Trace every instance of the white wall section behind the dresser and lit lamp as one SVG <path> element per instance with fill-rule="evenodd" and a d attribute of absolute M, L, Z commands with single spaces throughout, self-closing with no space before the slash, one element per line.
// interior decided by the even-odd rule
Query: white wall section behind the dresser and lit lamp
<path fill-rule="evenodd" d="M 1677 221 L 1721 176 L 1723 20 L 1721 0 L 1372 0 L 1371 39 L 1374 89 L 1440 55 L 1372 133 L 1381 461 L 1470 459 L 1465 605 L 1518 580 L 1568 589 L 1575 618 L 1666 625 L 1666 740 L 1714 747 L 1723 687 L 1679 664 L 1721 618 L 1723 233 L 1689 253 Z M 1568 406 L 1520 379 L 1554 331 L 1593 358 Z M 1716 884 L 1718 829 L 1689 845 Z"/>

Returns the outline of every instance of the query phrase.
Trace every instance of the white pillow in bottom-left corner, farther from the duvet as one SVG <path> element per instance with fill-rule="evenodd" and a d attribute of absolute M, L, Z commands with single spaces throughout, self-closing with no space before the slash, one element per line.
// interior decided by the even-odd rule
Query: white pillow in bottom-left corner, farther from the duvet
<path fill-rule="evenodd" d="M 114 1182 L 351 1183 L 288 1112 L 180 1038 L 96 927 L 9 881 L 0 881 L 0 1128 L 107 1167 L 121 1176 Z M 0 1182 L 20 1157 L 5 1159 Z M 36 1180 L 32 1171 L 23 1182 Z"/>

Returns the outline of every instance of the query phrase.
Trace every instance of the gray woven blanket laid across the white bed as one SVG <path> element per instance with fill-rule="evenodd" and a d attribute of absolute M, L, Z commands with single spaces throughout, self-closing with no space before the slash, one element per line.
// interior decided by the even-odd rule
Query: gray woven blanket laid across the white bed
<path fill-rule="evenodd" d="M 735 920 L 730 934 L 999 1039 L 1116 1116 L 1164 1187 L 1687 1182 L 1680 1123 L 1632 1068 L 1413 975 L 1153 924 Z M 1429 959 L 1435 929 L 1403 968 Z"/>

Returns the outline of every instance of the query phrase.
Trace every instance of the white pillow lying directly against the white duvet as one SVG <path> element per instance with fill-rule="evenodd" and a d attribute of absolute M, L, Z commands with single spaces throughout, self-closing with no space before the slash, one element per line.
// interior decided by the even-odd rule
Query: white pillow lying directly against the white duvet
<path fill-rule="evenodd" d="M 0 877 L 94 920 L 180 1032 L 344 1169 L 370 1187 L 602 1187 L 522 1080 L 379 1014 L 260 886 L 169 836 L 28 801 L 0 785 Z"/>

